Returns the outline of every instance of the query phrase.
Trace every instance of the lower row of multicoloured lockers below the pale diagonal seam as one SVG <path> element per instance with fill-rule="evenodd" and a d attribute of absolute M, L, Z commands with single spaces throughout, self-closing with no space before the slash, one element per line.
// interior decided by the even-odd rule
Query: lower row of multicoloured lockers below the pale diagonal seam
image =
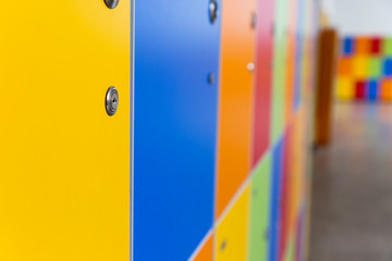
<path fill-rule="evenodd" d="M 294 149 L 302 142 L 301 120 L 297 116 L 284 139 L 259 162 L 249 183 L 216 222 L 215 234 L 199 251 L 204 260 L 303 260 L 306 181 L 294 162 L 303 157 L 296 154 L 301 147 Z M 196 256 L 192 260 L 201 259 Z"/>

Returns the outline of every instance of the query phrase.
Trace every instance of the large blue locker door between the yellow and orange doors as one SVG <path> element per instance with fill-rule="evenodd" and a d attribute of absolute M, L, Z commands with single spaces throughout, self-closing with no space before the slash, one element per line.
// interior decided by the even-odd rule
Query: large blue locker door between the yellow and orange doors
<path fill-rule="evenodd" d="M 135 1 L 135 261 L 186 260 L 212 226 L 220 24 L 208 7 Z"/>

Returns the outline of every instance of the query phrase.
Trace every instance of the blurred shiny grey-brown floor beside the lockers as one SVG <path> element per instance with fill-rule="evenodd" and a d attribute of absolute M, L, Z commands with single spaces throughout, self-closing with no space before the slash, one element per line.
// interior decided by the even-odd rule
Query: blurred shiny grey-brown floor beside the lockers
<path fill-rule="evenodd" d="M 392 105 L 339 103 L 315 154 L 310 261 L 392 261 Z"/>

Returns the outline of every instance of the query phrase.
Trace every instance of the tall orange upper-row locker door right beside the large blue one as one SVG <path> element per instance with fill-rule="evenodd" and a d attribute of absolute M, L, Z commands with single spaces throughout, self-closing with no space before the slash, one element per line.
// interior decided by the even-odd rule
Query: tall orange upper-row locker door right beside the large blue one
<path fill-rule="evenodd" d="M 216 217 L 250 172 L 255 0 L 223 0 Z"/>

